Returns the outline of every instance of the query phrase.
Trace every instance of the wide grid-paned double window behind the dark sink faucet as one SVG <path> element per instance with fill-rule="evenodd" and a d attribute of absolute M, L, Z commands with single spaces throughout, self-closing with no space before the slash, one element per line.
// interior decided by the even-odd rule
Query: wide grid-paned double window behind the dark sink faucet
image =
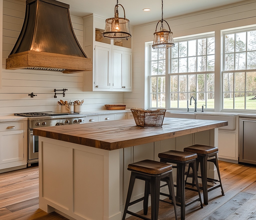
<path fill-rule="evenodd" d="M 214 34 L 176 40 L 168 50 L 150 45 L 150 55 L 149 108 L 187 109 L 193 96 L 199 108 L 214 109 Z"/>

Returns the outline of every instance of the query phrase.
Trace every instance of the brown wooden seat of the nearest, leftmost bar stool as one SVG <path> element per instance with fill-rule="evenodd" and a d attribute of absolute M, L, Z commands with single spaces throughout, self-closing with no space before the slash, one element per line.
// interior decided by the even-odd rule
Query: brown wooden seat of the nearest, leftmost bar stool
<path fill-rule="evenodd" d="M 172 165 L 154 160 L 142 160 L 129 164 L 128 170 L 156 175 L 172 170 Z"/>

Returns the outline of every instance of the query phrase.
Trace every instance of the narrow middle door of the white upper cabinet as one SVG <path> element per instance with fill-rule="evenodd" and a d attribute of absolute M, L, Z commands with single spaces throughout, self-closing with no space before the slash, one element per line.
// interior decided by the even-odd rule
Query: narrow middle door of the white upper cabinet
<path fill-rule="evenodd" d="M 113 50 L 113 89 L 122 89 L 123 52 Z"/>

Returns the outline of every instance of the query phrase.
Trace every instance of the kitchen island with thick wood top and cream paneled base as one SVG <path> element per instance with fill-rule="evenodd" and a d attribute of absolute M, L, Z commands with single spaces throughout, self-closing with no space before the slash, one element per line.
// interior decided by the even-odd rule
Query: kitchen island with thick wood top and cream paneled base
<path fill-rule="evenodd" d="M 165 118 L 162 127 L 151 128 L 129 119 L 34 129 L 39 136 L 39 208 L 69 219 L 120 220 L 130 176 L 127 164 L 140 159 L 136 148 L 143 145 L 146 151 L 141 154 L 152 152 L 148 159 L 158 160 L 159 141 L 206 130 L 214 134 L 226 125 Z M 215 144 L 216 137 L 211 136 Z M 134 199 L 143 192 L 144 185 L 138 185 Z"/>

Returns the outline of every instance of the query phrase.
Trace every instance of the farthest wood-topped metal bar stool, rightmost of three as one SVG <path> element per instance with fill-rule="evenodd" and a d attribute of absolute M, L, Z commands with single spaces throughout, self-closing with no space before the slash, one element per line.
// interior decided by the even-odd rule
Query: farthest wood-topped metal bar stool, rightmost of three
<path fill-rule="evenodd" d="M 197 154 L 197 170 L 200 163 L 201 176 L 198 177 L 202 179 L 202 187 L 200 188 L 203 190 L 204 204 L 208 205 L 208 192 L 215 190 L 218 187 L 221 188 L 221 194 L 224 196 L 225 194 L 221 184 L 220 170 L 218 165 L 218 148 L 207 145 L 195 144 L 184 148 L 184 151 Z M 215 164 L 219 180 L 207 177 L 207 162 L 212 162 Z M 188 168 L 187 174 L 189 174 L 189 170 L 190 167 Z M 220 184 L 208 188 L 207 182 L 219 182 Z"/>

